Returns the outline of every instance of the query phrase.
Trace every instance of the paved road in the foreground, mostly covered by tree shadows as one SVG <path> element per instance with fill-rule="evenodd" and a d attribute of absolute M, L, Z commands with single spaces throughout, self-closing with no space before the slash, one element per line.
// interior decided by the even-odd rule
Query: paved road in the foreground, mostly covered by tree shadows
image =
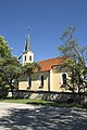
<path fill-rule="evenodd" d="M 0 130 L 87 130 L 87 110 L 0 103 Z"/>

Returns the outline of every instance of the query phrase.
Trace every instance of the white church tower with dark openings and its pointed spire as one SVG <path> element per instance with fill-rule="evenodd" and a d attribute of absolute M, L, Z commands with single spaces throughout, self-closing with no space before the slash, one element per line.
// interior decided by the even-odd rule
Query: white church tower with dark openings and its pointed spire
<path fill-rule="evenodd" d="M 34 62 L 34 52 L 30 49 L 29 34 L 26 35 L 26 44 L 25 44 L 25 50 L 23 52 L 22 58 L 23 58 L 23 62 L 22 62 L 23 65 L 25 65 L 26 63 Z"/>

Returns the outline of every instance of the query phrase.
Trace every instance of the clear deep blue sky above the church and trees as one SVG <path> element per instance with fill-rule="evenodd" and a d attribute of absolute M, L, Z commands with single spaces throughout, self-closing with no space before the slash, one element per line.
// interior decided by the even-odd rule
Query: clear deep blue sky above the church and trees
<path fill-rule="evenodd" d="M 20 55 L 30 28 L 35 61 L 59 56 L 59 37 L 65 27 L 76 25 L 78 43 L 87 44 L 87 0 L 0 0 L 0 35 L 12 53 Z"/>

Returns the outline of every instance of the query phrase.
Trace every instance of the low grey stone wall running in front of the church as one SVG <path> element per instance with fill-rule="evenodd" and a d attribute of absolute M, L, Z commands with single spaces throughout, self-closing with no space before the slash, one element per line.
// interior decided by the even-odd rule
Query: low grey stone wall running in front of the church
<path fill-rule="evenodd" d="M 84 102 L 87 100 L 87 94 L 71 92 L 48 92 L 48 91 L 26 91 L 17 90 L 14 92 L 15 99 L 30 99 L 30 100 L 45 100 L 45 101 L 55 101 L 55 102 L 78 102 L 79 100 Z"/>

